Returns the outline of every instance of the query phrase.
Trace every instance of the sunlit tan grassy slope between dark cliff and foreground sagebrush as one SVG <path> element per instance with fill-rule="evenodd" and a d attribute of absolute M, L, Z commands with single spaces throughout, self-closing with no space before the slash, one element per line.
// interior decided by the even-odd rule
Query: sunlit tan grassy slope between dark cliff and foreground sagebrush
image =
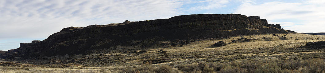
<path fill-rule="evenodd" d="M 262 34 L 262 35 L 249 35 L 243 36 L 247 41 L 238 41 L 233 43 L 231 41 L 238 40 L 241 37 L 229 37 L 221 40 L 201 40 L 193 41 L 189 44 L 182 46 L 165 46 L 160 44 L 149 48 L 141 48 L 140 46 L 115 46 L 110 49 L 96 49 L 94 54 L 89 55 L 67 55 L 67 56 L 54 56 L 41 59 L 30 59 L 29 64 L 46 64 L 49 59 L 60 59 L 62 62 L 70 62 L 84 66 L 126 66 L 126 65 L 140 65 L 144 61 L 152 60 L 154 64 L 174 63 L 174 64 L 190 64 L 194 62 L 211 60 L 211 61 L 226 61 L 226 60 L 241 60 L 243 58 L 231 59 L 232 57 L 240 56 L 256 58 L 258 56 L 271 56 L 267 59 L 277 59 L 275 56 L 290 57 L 299 52 L 312 52 L 323 50 L 303 50 L 307 42 L 312 41 L 325 41 L 323 35 L 308 35 L 301 33 L 289 34 Z M 264 37 L 264 38 L 263 38 Z M 269 40 L 265 40 L 265 37 Z M 283 39 L 283 37 L 286 37 Z M 316 39 L 320 40 L 316 40 Z M 299 39 L 299 40 L 295 40 Z M 227 44 L 221 47 L 210 47 L 218 41 L 225 41 Z M 135 41 L 136 42 L 136 41 Z M 169 42 L 169 41 L 161 41 Z M 299 49 L 299 50 L 297 50 Z M 133 53 L 146 50 L 145 53 Z M 159 50 L 163 50 L 162 53 Z M 127 53 L 123 53 L 128 51 Z M 203 59 L 203 60 L 202 60 Z M 244 58 L 247 59 L 247 58 Z M 260 58 L 266 59 L 266 57 Z M 41 61 L 40 61 L 41 60 Z M 154 61 L 156 60 L 156 61 Z M 27 62 L 23 62 L 27 63 Z M 64 63 L 63 63 L 64 64 Z"/>

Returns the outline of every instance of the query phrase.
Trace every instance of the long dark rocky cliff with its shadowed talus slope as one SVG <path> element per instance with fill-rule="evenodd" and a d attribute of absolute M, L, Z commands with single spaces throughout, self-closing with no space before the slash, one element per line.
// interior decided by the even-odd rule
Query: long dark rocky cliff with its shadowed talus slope
<path fill-rule="evenodd" d="M 87 27 L 68 27 L 44 41 L 21 43 L 18 55 L 25 58 L 82 54 L 91 49 L 133 45 L 132 41 L 159 38 L 157 41 L 218 39 L 236 35 L 292 32 L 279 24 L 267 24 L 258 16 L 240 14 L 181 15 L 157 19 Z"/>

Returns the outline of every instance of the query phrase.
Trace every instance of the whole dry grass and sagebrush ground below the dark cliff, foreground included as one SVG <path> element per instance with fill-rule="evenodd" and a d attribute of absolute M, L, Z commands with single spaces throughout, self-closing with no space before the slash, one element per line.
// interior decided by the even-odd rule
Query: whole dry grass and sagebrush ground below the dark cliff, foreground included
<path fill-rule="evenodd" d="M 74 59 L 78 65 L 42 65 L 33 67 L 0 67 L 0 73 L 323 73 L 324 48 L 305 47 L 305 43 L 325 41 L 325 36 L 300 33 L 243 36 L 248 41 L 194 41 L 182 46 L 153 46 L 145 53 L 136 46 L 118 46 L 116 50 L 92 55 L 53 57 Z M 286 38 L 283 38 L 283 37 Z M 264 37 L 264 38 L 263 38 Z M 267 38 L 266 38 L 267 37 Z M 316 40 L 319 38 L 320 40 Z M 254 40 L 255 39 L 255 40 Z M 299 40 L 295 40 L 299 39 Z M 210 47 L 218 41 L 229 43 Z M 159 45 L 159 44 L 157 44 Z M 165 51 L 162 53 L 159 50 Z M 95 50 L 96 51 L 96 50 Z M 101 50 L 106 51 L 106 50 Z M 52 59 L 49 57 L 48 59 Z M 152 61 L 143 63 L 144 61 Z M 79 65 L 80 64 L 80 65 Z M 69 67 L 74 66 L 74 67 Z M 86 67 L 90 66 L 90 67 Z M 107 67 L 112 66 L 112 67 Z M 44 68 L 47 67 L 47 68 Z"/>

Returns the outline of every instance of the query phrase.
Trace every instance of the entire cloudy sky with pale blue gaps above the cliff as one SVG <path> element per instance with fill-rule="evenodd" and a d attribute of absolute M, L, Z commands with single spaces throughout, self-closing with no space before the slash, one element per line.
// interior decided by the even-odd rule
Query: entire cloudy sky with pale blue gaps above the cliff
<path fill-rule="evenodd" d="M 260 16 L 295 32 L 325 32 L 325 0 L 0 0 L 0 50 L 61 29 L 188 14 Z"/>

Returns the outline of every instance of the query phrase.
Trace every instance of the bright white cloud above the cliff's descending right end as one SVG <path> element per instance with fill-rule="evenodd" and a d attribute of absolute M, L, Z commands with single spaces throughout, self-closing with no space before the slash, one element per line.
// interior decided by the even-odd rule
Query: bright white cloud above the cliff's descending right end
<path fill-rule="evenodd" d="M 325 32 L 324 0 L 298 2 L 256 1 L 242 2 L 235 13 L 266 18 L 269 23 L 282 23 L 284 29 L 295 32 Z M 285 21 L 283 21 L 285 20 Z"/>

